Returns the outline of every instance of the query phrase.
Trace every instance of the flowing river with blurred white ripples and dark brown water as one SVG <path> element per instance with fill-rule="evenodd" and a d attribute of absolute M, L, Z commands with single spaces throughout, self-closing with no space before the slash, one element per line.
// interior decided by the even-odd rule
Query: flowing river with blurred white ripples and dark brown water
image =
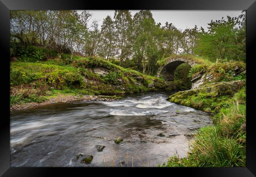
<path fill-rule="evenodd" d="M 212 124 L 211 115 L 166 101 L 167 96 L 153 92 L 12 111 L 11 167 L 120 167 L 121 161 L 151 167 L 174 153 L 186 157 L 190 135 Z M 123 142 L 115 144 L 119 136 Z M 97 151 L 97 145 L 105 148 Z M 93 155 L 91 164 L 76 160 L 82 153 Z"/>

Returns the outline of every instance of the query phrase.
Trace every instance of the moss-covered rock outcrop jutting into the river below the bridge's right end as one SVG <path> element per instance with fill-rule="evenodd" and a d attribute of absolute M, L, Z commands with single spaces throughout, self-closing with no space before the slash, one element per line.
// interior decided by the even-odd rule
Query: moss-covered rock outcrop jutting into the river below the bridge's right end
<path fill-rule="evenodd" d="M 166 100 L 206 112 L 215 112 L 227 105 L 225 99 L 233 96 L 245 83 L 243 80 L 207 83 L 197 89 L 177 92 Z"/>

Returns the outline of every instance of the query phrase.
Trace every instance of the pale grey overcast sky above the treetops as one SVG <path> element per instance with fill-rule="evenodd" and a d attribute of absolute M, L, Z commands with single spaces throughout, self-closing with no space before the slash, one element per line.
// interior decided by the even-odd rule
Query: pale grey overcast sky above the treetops
<path fill-rule="evenodd" d="M 114 17 L 115 10 L 88 10 L 93 14 L 89 25 L 93 20 L 99 20 L 99 25 L 101 26 L 102 21 L 106 18 L 107 15 Z M 130 10 L 132 16 L 139 10 Z M 241 10 L 242 11 L 242 10 Z M 238 17 L 241 14 L 241 11 L 221 11 L 221 10 L 151 10 L 153 18 L 156 23 L 160 22 L 162 26 L 165 25 L 165 22 L 173 23 L 173 25 L 178 28 L 185 30 L 186 28 L 194 28 L 197 25 L 198 28 L 202 26 L 204 30 L 208 30 L 207 23 L 210 23 L 211 20 L 220 20 L 222 17 L 226 16 Z M 82 10 L 78 10 L 78 13 Z"/>

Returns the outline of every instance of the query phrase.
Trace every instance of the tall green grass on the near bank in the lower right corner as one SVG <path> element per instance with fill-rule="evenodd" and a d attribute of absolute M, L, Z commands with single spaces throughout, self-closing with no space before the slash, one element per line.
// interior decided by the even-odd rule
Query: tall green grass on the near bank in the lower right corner
<path fill-rule="evenodd" d="M 201 128 L 190 146 L 187 158 L 174 155 L 161 167 L 245 167 L 246 89 L 226 100 L 227 107 L 215 114 L 215 125 Z"/>

